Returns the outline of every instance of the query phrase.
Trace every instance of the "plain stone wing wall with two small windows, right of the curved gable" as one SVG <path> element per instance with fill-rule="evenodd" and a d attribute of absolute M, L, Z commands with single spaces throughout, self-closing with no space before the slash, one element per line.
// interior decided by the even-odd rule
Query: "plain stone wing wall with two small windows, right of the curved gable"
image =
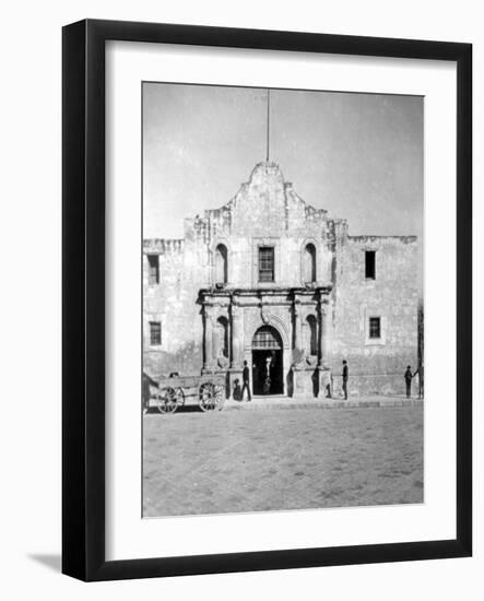
<path fill-rule="evenodd" d="M 375 279 L 365 278 L 365 251 L 376 251 Z M 417 240 L 414 236 L 347 236 L 337 257 L 333 288 L 333 378 L 341 390 L 342 361 L 349 392 L 404 393 L 406 365 L 417 367 Z M 379 317 L 381 338 L 369 338 Z"/>

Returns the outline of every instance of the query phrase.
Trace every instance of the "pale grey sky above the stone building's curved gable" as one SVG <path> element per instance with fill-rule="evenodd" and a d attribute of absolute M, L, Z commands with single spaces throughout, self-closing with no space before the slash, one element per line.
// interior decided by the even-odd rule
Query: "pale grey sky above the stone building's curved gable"
<path fill-rule="evenodd" d="M 144 83 L 144 237 L 228 202 L 265 139 L 265 90 Z M 422 235 L 422 97 L 273 90 L 270 160 L 351 235 Z"/>

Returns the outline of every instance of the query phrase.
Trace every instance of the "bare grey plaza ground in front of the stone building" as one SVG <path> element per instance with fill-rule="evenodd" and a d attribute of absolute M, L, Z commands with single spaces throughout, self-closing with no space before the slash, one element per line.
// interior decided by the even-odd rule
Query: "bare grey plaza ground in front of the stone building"
<path fill-rule="evenodd" d="M 422 503 L 423 406 L 143 416 L 143 516 Z"/>

